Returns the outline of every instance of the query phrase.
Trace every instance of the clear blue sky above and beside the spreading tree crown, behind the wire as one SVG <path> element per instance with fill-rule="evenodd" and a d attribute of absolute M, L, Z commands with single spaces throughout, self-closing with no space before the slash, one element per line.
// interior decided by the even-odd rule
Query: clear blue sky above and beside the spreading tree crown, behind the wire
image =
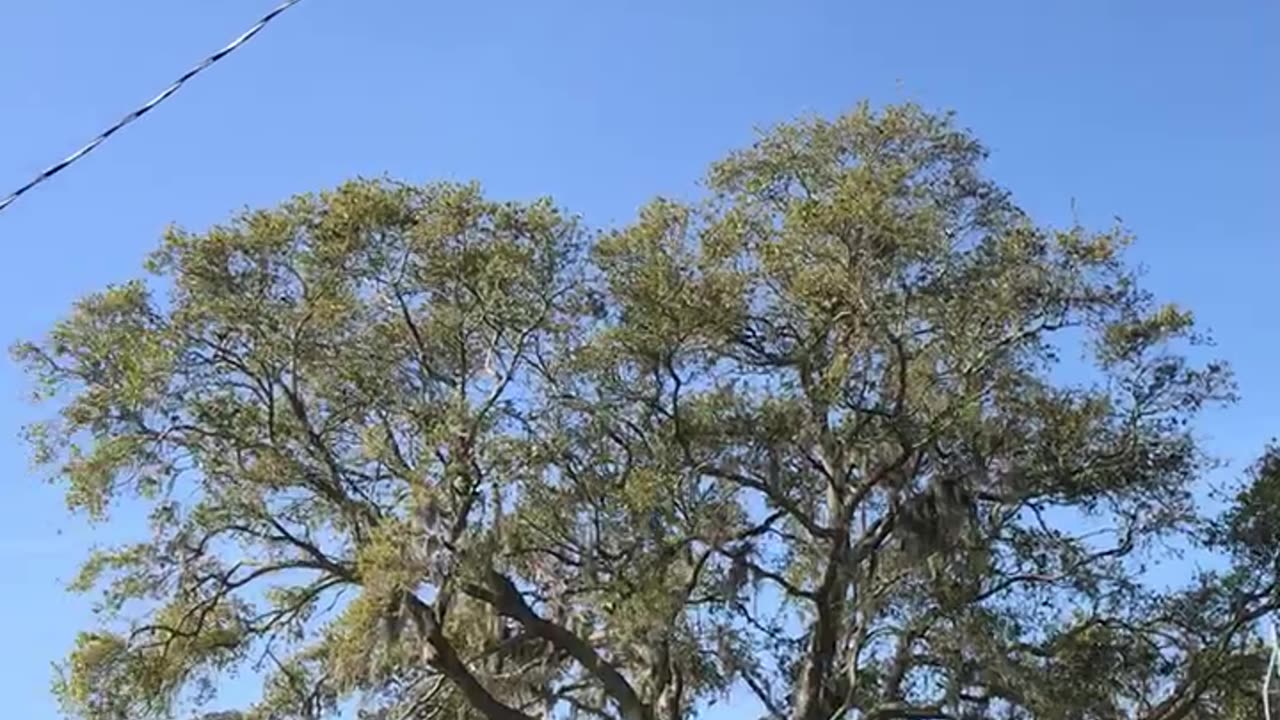
<path fill-rule="evenodd" d="M 271 3 L 4 3 L 0 193 Z M 1202 430 L 1239 470 L 1280 433 L 1277 38 L 1270 0 L 306 0 L 0 213 L 0 340 L 136 275 L 169 223 L 390 173 L 550 195 L 608 225 L 694 196 L 754 127 L 915 100 L 955 110 L 1038 219 L 1068 222 L 1074 199 L 1138 234 L 1151 286 L 1238 370 L 1243 402 Z M 50 662 L 90 621 L 63 583 L 105 536 L 29 471 L 24 389 L 0 363 L 0 698 L 42 720 Z"/>

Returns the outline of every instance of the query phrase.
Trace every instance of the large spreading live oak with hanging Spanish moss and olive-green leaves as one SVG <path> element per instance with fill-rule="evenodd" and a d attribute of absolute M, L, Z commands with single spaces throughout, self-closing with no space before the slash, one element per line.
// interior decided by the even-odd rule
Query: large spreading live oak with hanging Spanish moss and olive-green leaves
<path fill-rule="evenodd" d="M 17 351 L 70 507 L 150 512 L 67 711 L 252 666 L 251 719 L 1256 716 L 1276 464 L 1197 516 L 1228 369 L 983 158 L 863 106 L 612 232 L 361 181 L 168 233 Z M 1229 569 L 1152 587 L 1167 541 Z"/>

